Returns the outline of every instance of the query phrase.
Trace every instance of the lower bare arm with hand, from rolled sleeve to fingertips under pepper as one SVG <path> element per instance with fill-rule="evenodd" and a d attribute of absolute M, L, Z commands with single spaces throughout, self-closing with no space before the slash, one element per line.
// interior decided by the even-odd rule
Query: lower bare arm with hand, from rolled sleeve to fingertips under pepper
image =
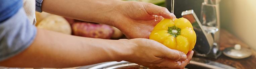
<path fill-rule="evenodd" d="M 192 55 L 190 52 L 187 58 L 184 53 L 149 39 L 104 40 L 38 29 L 28 49 L 1 61 L 0 66 L 66 68 L 129 61 L 152 68 L 184 68 Z M 179 65 L 175 61 L 184 62 Z"/>

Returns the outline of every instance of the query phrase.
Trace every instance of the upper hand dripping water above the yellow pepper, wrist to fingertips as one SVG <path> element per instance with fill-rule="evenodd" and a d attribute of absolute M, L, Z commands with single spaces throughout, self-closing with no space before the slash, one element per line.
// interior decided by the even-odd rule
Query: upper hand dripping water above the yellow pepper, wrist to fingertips
<path fill-rule="evenodd" d="M 162 18 L 176 18 L 165 7 L 152 3 L 122 1 L 116 7 L 115 23 L 113 26 L 120 29 L 127 38 L 149 38 L 150 32 Z M 158 21 L 155 16 L 158 15 Z"/>

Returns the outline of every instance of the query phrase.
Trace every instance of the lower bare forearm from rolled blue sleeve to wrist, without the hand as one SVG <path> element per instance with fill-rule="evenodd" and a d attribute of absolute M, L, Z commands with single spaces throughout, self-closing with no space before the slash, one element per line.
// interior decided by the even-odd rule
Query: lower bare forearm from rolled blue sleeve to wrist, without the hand
<path fill-rule="evenodd" d="M 0 65 L 63 68 L 119 61 L 116 59 L 118 54 L 113 50 L 114 46 L 118 46 L 116 41 L 76 37 L 38 29 L 37 36 L 28 49 L 0 62 Z"/>

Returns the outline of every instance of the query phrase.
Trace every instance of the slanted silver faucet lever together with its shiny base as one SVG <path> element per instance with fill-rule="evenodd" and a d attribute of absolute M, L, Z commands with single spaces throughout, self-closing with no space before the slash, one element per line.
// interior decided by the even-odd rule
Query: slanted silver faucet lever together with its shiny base
<path fill-rule="evenodd" d="M 219 28 L 204 24 L 202 25 L 194 10 L 183 11 L 182 16 L 192 23 L 197 34 L 197 42 L 193 49 L 196 52 L 196 55 L 217 58 L 221 54 L 218 43 L 215 40 L 215 35 L 218 34 L 217 32 L 219 32 Z"/>

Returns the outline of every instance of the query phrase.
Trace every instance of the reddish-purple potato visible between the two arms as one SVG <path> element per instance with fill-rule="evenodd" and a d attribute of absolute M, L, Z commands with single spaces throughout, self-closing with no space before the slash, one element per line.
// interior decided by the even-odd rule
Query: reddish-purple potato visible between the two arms
<path fill-rule="evenodd" d="M 72 31 L 75 36 L 101 39 L 110 39 L 114 33 L 111 26 L 90 22 L 75 22 L 72 24 Z"/>

